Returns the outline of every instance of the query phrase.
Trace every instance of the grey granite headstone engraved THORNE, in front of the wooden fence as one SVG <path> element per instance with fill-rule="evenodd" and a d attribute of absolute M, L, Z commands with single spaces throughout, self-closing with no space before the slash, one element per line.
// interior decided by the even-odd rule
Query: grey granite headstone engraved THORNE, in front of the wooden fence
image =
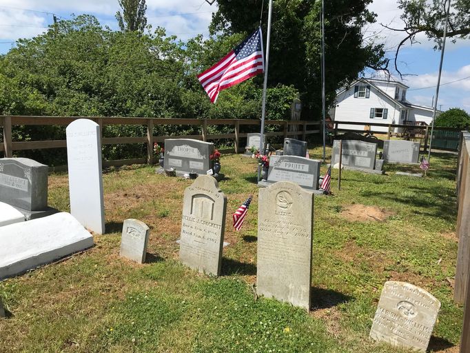
<path fill-rule="evenodd" d="M 165 168 L 174 168 L 181 173 L 206 174 L 212 169 L 210 155 L 214 153 L 214 143 L 193 139 L 165 140 Z"/>

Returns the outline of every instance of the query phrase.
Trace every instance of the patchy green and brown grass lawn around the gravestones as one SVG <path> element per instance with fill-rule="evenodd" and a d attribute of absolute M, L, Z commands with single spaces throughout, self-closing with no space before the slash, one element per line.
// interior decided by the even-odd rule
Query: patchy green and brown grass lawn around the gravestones
<path fill-rule="evenodd" d="M 320 159 L 321 148 L 309 152 Z M 155 174 L 150 166 L 110 170 L 103 176 L 107 234 L 94 237 L 94 248 L 0 282 L 10 312 L 0 319 L 0 351 L 405 352 L 368 338 L 382 285 L 395 280 L 441 301 L 429 350 L 458 352 L 456 156 L 433 154 L 427 178 L 395 175 L 418 172 L 398 165 L 386 165 L 387 175 L 345 170 L 340 191 L 333 170 L 333 196 L 315 199 L 309 313 L 256 298 L 256 163 L 234 154 L 221 163 L 230 243 L 222 276 L 178 263 L 183 190 L 192 181 Z M 49 204 L 68 211 L 67 174 L 50 175 L 49 184 Z M 235 232 L 232 213 L 251 192 L 247 219 Z M 349 221 L 351 205 L 377 206 L 389 216 Z M 127 218 L 150 226 L 143 265 L 119 257 Z"/>

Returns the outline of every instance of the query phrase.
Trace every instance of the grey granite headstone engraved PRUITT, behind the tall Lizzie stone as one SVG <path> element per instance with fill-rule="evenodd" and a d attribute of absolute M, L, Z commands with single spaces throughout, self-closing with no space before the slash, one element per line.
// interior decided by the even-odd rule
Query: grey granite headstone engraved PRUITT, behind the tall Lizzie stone
<path fill-rule="evenodd" d="M 265 183 L 292 181 L 303 188 L 318 190 L 321 161 L 296 156 L 272 156 Z"/>

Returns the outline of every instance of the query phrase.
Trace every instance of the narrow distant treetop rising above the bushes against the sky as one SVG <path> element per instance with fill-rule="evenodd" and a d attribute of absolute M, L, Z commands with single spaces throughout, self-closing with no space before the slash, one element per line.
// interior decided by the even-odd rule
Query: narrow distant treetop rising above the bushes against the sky
<path fill-rule="evenodd" d="M 123 10 L 122 14 L 121 11 L 116 12 L 116 19 L 121 31 L 143 32 L 147 26 L 145 0 L 118 0 L 118 2 Z"/>

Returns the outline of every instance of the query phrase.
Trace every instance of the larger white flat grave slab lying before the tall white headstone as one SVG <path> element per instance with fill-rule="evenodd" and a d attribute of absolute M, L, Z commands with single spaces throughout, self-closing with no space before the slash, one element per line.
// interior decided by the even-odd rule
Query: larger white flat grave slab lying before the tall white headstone
<path fill-rule="evenodd" d="M 70 213 L 0 228 L 0 280 L 93 246 L 92 235 Z"/>

